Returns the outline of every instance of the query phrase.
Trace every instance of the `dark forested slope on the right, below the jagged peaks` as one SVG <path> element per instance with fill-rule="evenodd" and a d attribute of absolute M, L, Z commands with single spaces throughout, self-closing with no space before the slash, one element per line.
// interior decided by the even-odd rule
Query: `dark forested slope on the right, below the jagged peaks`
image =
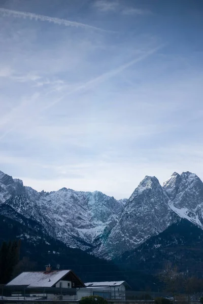
<path fill-rule="evenodd" d="M 203 230 L 184 218 L 168 226 L 134 250 L 115 260 L 125 270 L 156 275 L 170 261 L 179 272 L 201 277 L 203 272 Z"/>

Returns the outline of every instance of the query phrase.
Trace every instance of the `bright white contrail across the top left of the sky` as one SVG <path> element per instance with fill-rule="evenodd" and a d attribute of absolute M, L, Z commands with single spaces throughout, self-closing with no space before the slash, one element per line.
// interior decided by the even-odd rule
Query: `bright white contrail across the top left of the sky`
<path fill-rule="evenodd" d="M 102 29 L 102 28 L 99 28 L 96 26 L 92 26 L 92 25 L 88 25 L 88 24 L 84 24 L 84 23 L 80 23 L 80 22 L 76 22 L 76 21 L 70 21 L 70 20 L 66 20 L 66 19 L 54 18 L 54 17 L 27 13 L 27 12 L 13 11 L 13 10 L 4 9 L 4 8 L 0 8 L 0 13 L 2 13 L 4 16 L 12 15 L 17 18 L 29 18 L 30 20 L 35 19 L 36 21 L 38 21 L 38 20 L 48 21 L 48 22 L 53 22 L 55 24 L 59 24 L 59 25 L 82 27 L 82 28 L 105 31 L 105 32 L 113 32 L 113 31 L 105 30 L 105 29 Z"/>

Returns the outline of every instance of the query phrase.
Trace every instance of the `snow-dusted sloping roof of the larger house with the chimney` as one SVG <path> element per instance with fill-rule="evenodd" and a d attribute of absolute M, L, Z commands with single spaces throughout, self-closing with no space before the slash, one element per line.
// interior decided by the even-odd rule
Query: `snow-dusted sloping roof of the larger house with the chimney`
<path fill-rule="evenodd" d="M 10 285 L 28 285 L 32 287 L 52 287 L 61 278 L 70 273 L 71 270 L 56 270 L 51 272 L 23 272 L 11 282 L 7 284 Z"/>

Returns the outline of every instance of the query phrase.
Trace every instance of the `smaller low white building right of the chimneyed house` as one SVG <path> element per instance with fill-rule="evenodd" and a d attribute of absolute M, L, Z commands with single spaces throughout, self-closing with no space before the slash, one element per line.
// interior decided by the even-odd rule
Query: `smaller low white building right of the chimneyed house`
<path fill-rule="evenodd" d="M 90 282 L 85 283 L 85 286 L 86 289 L 82 289 L 88 295 L 101 295 L 105 298 L 122 300 L 125 300 L 126 288 L 130 288 L 125 281 Z"/>

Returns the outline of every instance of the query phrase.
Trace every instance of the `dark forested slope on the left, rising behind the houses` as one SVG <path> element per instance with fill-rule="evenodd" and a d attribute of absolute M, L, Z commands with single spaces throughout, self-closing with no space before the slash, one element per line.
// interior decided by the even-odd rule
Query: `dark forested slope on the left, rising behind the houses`
<path fill-rule="evenodd" d="M 46 234 L 43 226 L 35 220 L 27 219 L 17 214 L 11 207 L 3 207 L 5 213 L 16 214 L 16 219 L 0 215 L 0 244 L 3 241 L 21 239 L 20 265 L 15 275 L 22 271 L 43 271 L 45 265 L 51 263 L 53 269 L 72 269 L 84 282 L 96 281 L 99 278 L 106 281 L 111 273 L 112 280 L 119 277 L 119 268 L 106 260 L 97 258 L 80 249 L 68 248 L 64 243 Z M 7 209 L 7 212 L 6 212 Z M 26 257 L 26 259 L 24 258 Z M 29 259 L 29 260 L 28 260 Z"/>

